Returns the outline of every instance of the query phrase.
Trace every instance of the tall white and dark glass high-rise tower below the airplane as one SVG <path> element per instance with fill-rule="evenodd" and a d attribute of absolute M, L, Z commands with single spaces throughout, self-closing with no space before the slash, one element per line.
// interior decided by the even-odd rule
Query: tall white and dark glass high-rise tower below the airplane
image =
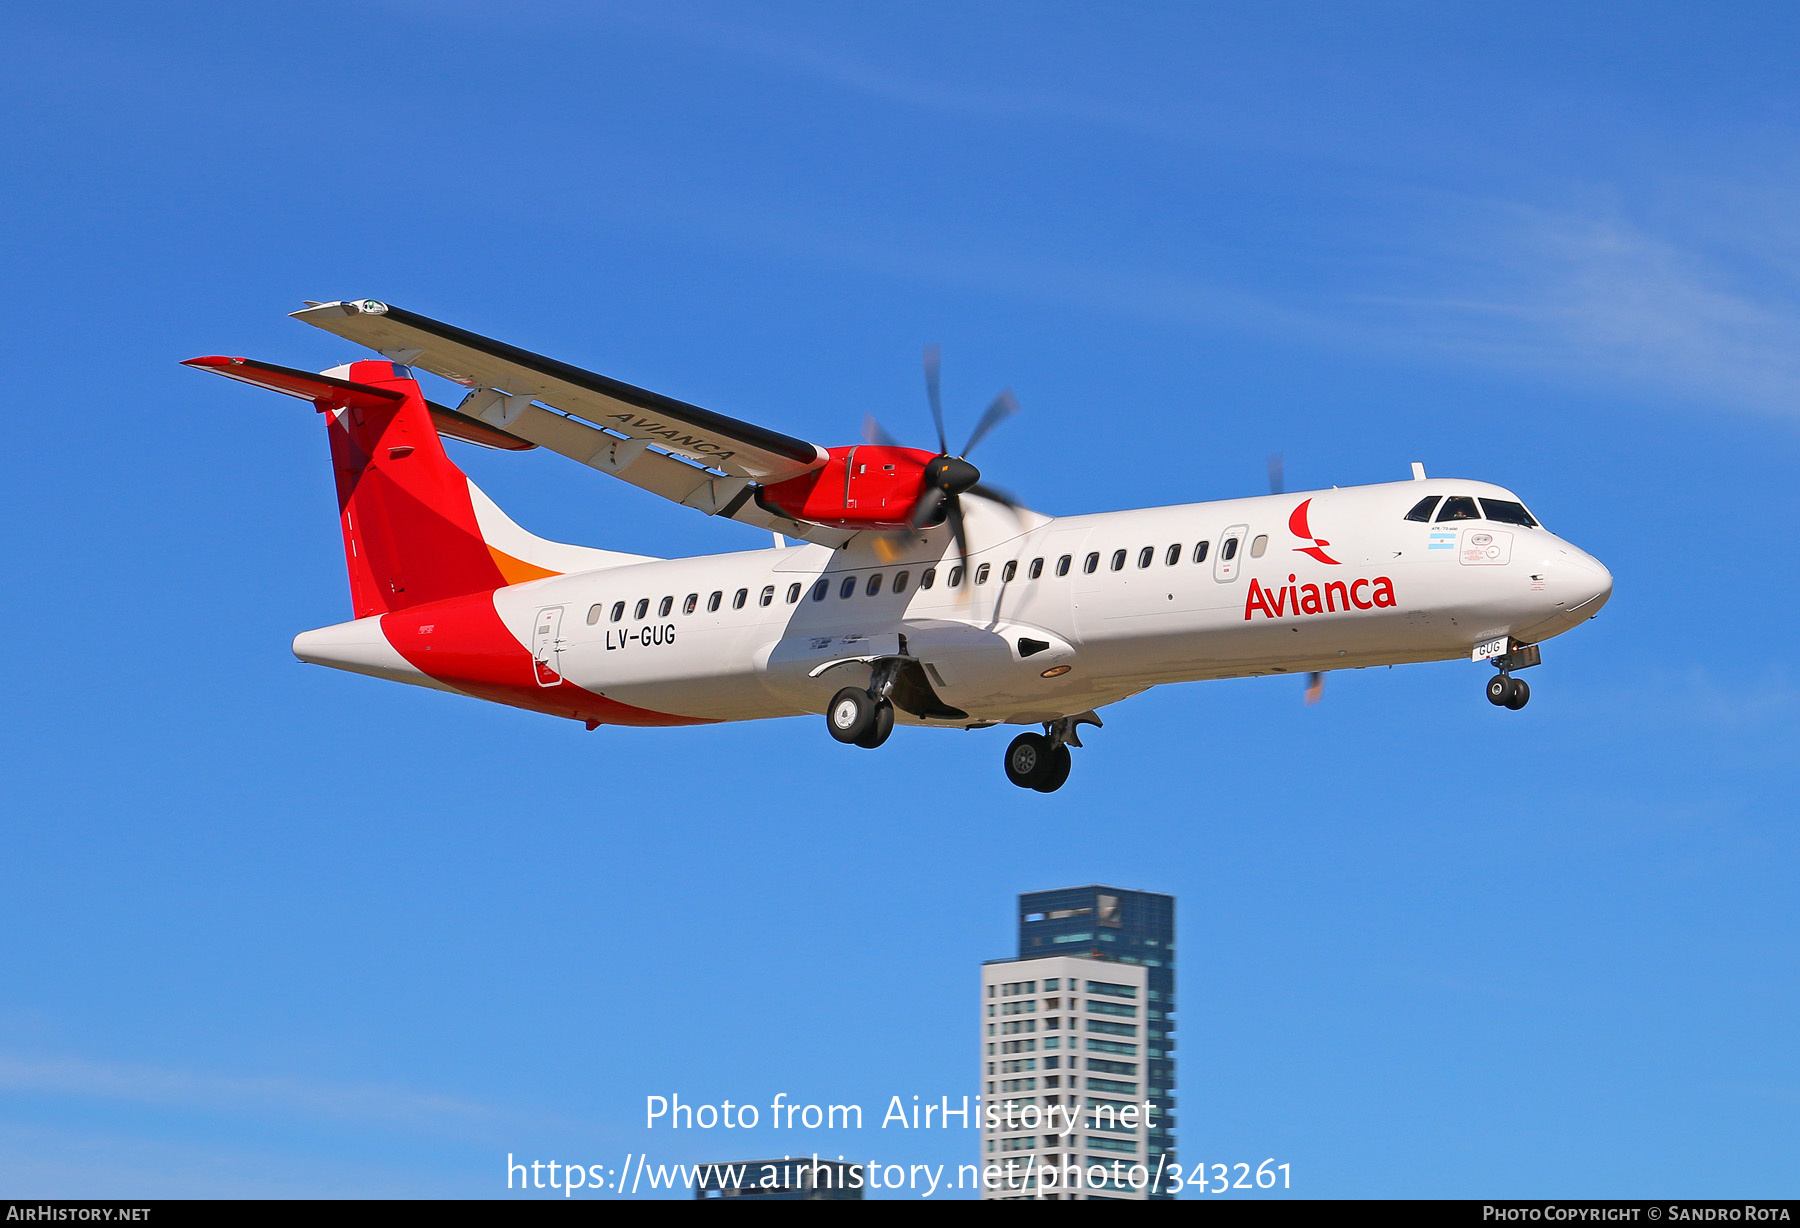
<path fill-rule="evenodd" d="M 981 965 L 985 1199 L 1163 1199 L 1175 1163 L 1175 897 L 1019 897 Z"/>

